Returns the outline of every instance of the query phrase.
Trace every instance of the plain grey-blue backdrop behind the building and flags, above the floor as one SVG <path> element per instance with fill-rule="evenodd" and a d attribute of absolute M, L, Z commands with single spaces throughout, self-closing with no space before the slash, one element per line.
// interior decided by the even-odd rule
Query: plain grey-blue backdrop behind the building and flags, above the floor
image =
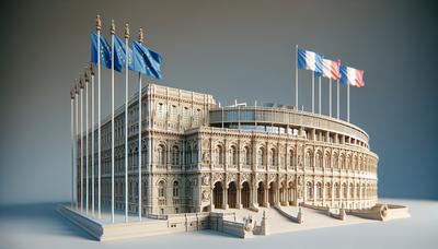
<path fill-rule="evenodd" d="M 90 58 L 95 14 L 125 22 L 164 58 L 160 84 L 230 104 L 292 105 L 296 44 L 366 70 L 351 122 L 380 156 L 379 194 L 438 199 L 438 9 L 425 1 L 2 1 L 0 204 L 68 201 L 69 87 Z M 103 72 L 104 116 L 110 72 Z M 310 108 L 310 73 L 300 71 Z M 124 102 L 116 76 L 116 105 Z M 131 82 L 135 82 L 134 75 Z M 131 84 L 130 93 L 136 88 Z M 323 82 L 323 112 L 327 87 Z M 345 117 L 345 88 L 342 93 Z"/>

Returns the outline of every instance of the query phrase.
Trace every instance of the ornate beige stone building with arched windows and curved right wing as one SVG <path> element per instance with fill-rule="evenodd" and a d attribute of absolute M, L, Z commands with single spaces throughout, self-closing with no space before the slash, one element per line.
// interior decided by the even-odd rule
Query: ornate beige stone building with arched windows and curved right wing
<path fill-rule="evenodd" d="M 370 151 L 368 134 L 351 123 L 281 105 L 219 107 L 211 95 L 155 84 L 143 87 L 141 98 L 141 147 L 138 98 L 128 105 L 130 212 L 139 211 L 139 185 L 145 215 L 299 203 L 358 210 L 377 203 L 378 156 Z M 123 106 L 115 114 L 116 210 L 125 210 L 124 111 Z M 111 119 L 102 123 L 101 198 L 105 209 L 112 200 Z M 97 132 L 94 134 L 97 144 Z M 77 146 L 80 149 L 80 139 Z M 97 152 L 94 154 L 97 178 Z M 77 158 L 77 200 L 81 192 L 85 200 L 80 152 Z M 89 182 L 91 189 L 91 179 Z M 97 200 L 96 179 L 94 185 Z"/>

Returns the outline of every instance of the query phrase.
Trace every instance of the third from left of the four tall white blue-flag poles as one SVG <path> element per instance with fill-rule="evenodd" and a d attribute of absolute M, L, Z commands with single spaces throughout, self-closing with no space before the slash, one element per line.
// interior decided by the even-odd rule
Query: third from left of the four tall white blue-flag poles
<path fill-rule="evenodd" d="M 129 26 L 125 26 L 125 222 L 128 222 L 128 78 Z"/>

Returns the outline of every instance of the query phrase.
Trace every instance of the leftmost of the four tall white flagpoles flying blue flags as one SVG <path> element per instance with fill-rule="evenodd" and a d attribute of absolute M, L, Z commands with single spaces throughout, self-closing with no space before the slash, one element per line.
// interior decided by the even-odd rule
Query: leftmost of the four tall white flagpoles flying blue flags
<path fill-rule="evenodd" d="M 102 137 L 101 137 L 101 16 L 96 17 L 97 32 L 97 217 L 101 218 L 101 163 L 102 163 Z"/>

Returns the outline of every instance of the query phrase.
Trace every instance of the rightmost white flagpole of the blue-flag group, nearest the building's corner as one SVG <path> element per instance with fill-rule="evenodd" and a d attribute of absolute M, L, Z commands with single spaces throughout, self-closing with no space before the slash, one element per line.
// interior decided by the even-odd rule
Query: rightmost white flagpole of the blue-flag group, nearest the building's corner
<path fill-rule="evenodd" d="M 138 42 L 143 43 L 143 31 L 139 29 Z M 141 73 L 138 73 L 138 218 L 141 222 Z M 150 139 L 150 138 L 149 138 Z M 150 147 L 148 149 L 150 150 Z"/>

